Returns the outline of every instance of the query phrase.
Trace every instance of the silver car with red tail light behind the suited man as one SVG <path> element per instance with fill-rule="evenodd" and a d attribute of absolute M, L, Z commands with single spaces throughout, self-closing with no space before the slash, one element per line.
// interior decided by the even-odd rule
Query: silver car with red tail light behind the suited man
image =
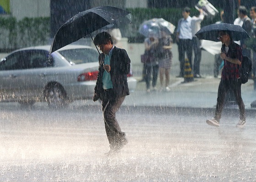
<path fill-rule="evenodd" d="M 0 61 L 0 101 L 32 105 L 47 101 L 59 107 L 70 101 L 92 99 L 98 75 L 96 49 L 67 45 L 49 54 L 50 45 L 27 47 L 11 52 Z M 128 75 L 132 92 L 137 81 Z"/>

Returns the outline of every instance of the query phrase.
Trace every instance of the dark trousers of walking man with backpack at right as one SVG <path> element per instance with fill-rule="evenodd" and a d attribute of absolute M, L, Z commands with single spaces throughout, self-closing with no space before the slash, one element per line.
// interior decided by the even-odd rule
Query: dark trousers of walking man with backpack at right
<path fill-rule="evenodd" d="M 240 79 L 235 81 L 222 80 L 219 83 L 217 105 L 215 110 L 215 119 L 220 120 L 223 111 L 224 100 L 228 94 L 228 90 L 232 91 L 235 96 L 236 103 L 240 111 L 240 120 L 245 120 L 245 105 L 241 96 L 241 81 Z"/>

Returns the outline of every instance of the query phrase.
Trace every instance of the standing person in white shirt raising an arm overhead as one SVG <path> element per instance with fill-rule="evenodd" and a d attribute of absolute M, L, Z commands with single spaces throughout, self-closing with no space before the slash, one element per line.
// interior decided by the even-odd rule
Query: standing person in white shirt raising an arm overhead
<path fill-rule="evenodd" d="M 203 21 L 204 15 L 203 15 L 203 10 L 199 9 L 199 16 L 192 16 L 191 19 L 191 30 L 192 30 L 192 46 L 194 50 L 194 77 L 195 78 L 202 78 L 200 75 L 200 62 L 201 62 L 201 42 L 195 35 L 197 31 L 201 29 L 201 22 Z"/>

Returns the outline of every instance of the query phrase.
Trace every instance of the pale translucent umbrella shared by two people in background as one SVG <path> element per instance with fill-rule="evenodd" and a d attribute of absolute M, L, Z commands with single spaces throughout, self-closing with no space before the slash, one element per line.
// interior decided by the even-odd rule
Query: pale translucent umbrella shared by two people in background
<path fill-rule="evenodd" d="M 149 37 L 150 34 L 155 35 L 156 37 L 160 37 L 161 30 L 166 34 L 171 35 L 174 33 L 175 26 L 163 18 L 153 18 L 146 20 L 139 26 L 139 33 L 145 37 Z"/>

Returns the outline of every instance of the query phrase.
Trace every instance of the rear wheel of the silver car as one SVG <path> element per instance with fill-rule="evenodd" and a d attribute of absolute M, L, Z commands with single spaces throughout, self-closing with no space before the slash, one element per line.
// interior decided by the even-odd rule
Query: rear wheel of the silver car
<path fill-rule="evenodd" d="M 46 100 L 48 106 L 53 108 L 61 108 L 68 104 L 64 89 L 58 85 L 51 85 L 48 87 Z"/>

